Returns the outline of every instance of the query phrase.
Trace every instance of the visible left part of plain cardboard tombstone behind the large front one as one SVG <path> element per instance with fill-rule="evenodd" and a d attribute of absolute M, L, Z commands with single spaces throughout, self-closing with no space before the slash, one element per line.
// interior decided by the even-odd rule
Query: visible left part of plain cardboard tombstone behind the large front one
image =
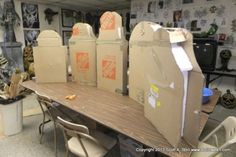
<path fill-rule="evenodd" d="M 142 22 L 139 25 L 140 27 L 136 27 L 134 30 L 138 33 L 132 33 L 129 44 L 129 96 L 144 105 L 147 100 L 144 91 L 143 58 L 145 58 L 145 52 L 152 50 L 150 47 L 150 44 L 154 42 L 154 28 L 152 26 L 156 27 L 157 25 L 152 22 Z"/>

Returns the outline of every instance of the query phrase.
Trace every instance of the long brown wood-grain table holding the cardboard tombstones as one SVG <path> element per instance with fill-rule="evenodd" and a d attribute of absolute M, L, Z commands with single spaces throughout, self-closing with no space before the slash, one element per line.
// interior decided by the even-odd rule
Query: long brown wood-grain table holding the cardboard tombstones
<path fill-rule="evenodd" d="M 27 81 L 21 84 L 32 91 L 38 91 L 52 100 L 87 116 L 117 132 L 120 132 L 151 148 L 172 148 L 167 140 L 144 117 L 143 106 L 130 99 L 103 91 L 95 87 L 80 86 L 76 83 L 36 84 Z M 65 96 L 76 94 L 74 100 L 66 100 Z M 201 129 L 204 128 L 208 115 L 201 113 Z M 181 140 L 178 148 L 191 148 Z M 191 152 L 161 151 L 173 157 L 189 157 Z"/>

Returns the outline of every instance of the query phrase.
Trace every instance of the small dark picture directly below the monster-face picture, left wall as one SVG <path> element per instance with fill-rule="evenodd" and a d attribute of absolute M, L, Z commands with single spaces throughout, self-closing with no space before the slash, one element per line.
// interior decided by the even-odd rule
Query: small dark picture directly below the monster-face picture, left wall
<path fill-rule="evenodd" d="M 35 45 L 40 30 L 24 30 L 25 46 Z"/>

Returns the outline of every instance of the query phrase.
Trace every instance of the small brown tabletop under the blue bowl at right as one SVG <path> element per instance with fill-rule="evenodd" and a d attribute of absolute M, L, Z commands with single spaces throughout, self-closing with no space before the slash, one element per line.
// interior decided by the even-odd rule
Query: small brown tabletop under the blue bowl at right
<path fill-rule="evenodd" d="M 210 97 L 208 103 L 202 105 L 202 112 L 212 113 L 216 107 L 217 101 L 221 96 L 221 91 L 213 90 L 213 95 Z"/>

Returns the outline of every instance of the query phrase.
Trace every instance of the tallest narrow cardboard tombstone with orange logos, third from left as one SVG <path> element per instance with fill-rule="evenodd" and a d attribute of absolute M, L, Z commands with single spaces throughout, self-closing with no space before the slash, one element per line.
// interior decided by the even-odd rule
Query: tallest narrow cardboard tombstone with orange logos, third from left
<path fill-rule="evenodd" d="M 102 15 L 97 40 L 97 86 L 119 94 L 127 93 L 127 47 L 121 16 L 116 12 Z"/>

